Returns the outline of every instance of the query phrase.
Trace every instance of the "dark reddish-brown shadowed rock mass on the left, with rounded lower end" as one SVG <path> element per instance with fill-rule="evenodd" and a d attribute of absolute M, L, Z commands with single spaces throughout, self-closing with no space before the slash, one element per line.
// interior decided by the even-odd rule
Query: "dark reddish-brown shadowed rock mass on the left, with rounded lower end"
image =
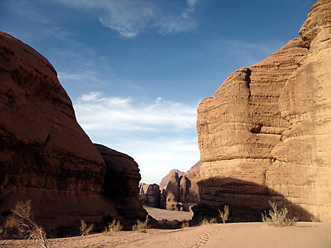
<path fill-rule="evenodd" d="M 128 228 L 129 213 L 145 218 L 133 159 L 97 145 L 100 155 L 54 67 L 2 31 L 0 82 L 0 224 L 20 200 L 32 201 L 35 221 L 55 236 L 81 219 Z"/>

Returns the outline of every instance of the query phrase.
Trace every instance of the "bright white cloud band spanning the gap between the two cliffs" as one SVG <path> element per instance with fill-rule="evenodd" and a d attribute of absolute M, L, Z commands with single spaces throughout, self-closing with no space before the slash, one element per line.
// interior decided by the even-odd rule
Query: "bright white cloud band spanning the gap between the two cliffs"
<path fill-rule="evenodd" d="M 78 122 L 86 131 L 97 129 L 178 132 L 195 126 L 196 106 L 165 101 L 135 103 L 132 98 L 107 97 L 91 92 L 74 104 Z"/>

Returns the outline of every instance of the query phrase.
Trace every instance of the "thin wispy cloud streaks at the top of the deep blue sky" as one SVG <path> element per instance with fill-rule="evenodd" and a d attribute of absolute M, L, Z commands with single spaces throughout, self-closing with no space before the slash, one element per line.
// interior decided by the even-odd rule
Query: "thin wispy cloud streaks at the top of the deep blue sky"
<path fill-rule="evenodd" d="M 127 38 L 137 36 L 147 29 L 160 34 L 190 31 L 197 27 L 191 16 L 198 0 L 163 2 L 150 0 L 58 0 L 71 7 L 84 9 L 96 15 L 100 23 L 118 31 Z"/>

